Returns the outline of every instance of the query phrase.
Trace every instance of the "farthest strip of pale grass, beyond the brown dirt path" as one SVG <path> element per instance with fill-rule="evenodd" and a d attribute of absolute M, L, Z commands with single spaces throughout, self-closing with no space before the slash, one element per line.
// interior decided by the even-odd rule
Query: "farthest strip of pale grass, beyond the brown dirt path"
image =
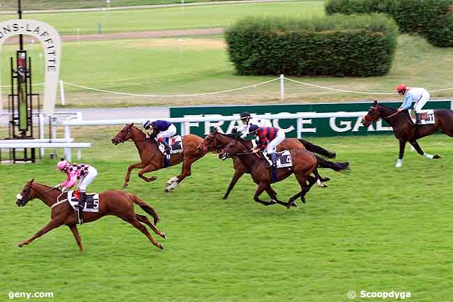
<path fill-rule="evenodd" d="M 160 29 L 192 29 L 224 27 L 248 15 L 323 15 L 321 1 L 285 3 L 240 3 L 213 6 L 187 6 L 141 10 L 115 10 L 87 13 L 52 13 L 26 15 L 26 18 L 47 22 L 61 35 L 151 31 Z M 11 15 L 0 15 L 0 21 Z M 78 29 L 78 30 L 77 30 Z"/>

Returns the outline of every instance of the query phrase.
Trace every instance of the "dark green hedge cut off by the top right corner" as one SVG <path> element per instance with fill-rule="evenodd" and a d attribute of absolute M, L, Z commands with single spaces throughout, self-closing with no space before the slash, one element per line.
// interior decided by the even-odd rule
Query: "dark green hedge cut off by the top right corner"
<path fill-rule="evenodd" d="M 386 13 L 402 33 L 420 33 L 433 45 L 453 46 L 453 0 L 327 0 L 325 11 Z"/>

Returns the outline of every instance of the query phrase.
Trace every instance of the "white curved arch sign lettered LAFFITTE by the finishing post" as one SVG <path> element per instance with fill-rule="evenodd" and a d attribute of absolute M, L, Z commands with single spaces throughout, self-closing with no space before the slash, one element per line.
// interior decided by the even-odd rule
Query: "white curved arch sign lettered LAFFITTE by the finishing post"
<path fill-rule="evenodd" d="M 33 36 L 40 40 L 44 47 L 45 57 L 45 88 L 44 112 L 52 114 L 55 109 L 56 85 L 59 80 L 61 65 L 61 38 L 49 24 L 37 20 L 8 20 L 0 22 L 0 49 L 6 39 L 17 35 Z M 0 73 L 1 74 L 1 73 Z M 1 77 L 0 77 L 1 80 Z M 0 82 L 1 89 L 1 82 Z M 1 111 L 0 90 L 0 111 Z"/>

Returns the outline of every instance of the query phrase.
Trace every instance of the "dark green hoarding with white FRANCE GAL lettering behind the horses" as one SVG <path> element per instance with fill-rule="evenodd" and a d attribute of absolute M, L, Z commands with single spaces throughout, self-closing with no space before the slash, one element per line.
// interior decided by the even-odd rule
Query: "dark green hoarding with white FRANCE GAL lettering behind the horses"
<path fill-rule="evenodd" d="M 367 112 L 372 101 L 357 103 L 317 103 L 317 104 L 295 104 L 295 105 L 241 105 L 241 106 L 191 106 L 191 107 L 171 107 L 170 117 L 183 116 L 231 116 L 239 115 L 241 112 L 250 112 L 250 114 L 278 114 L 282 112 Z M 399 107 L 402 102 L 381 102 L 380 104 Z M 450 109 L 451 100 L 431 100 L 423 109 Z M 337 118 L 316 118 L 302 119 L 300 126 L 301 137 L 328 137 L 337 135 L 374 135 L 391 133 L 391 129 L 385 122 L 374 123 L 368 129 L 362 126 L 362 116 L 360 117 L 337 117 Z M 298 136 L 298 121 L 296 119 L 274 119 L 272 124 L 282 128 L 286 132 L 286 137 Z M 235 126 L 240 126 L 241 122 L 237 121 L 211 121 L 190 123 L 186 125 L 190 133 L 204 136 L 212 132 L 216 127 L 224 133 L 229 133 Z M 178 133 L 181 133 L 181 123 L 177 125 Z M 187 126 L 189 126 L 187 128 Z"/>

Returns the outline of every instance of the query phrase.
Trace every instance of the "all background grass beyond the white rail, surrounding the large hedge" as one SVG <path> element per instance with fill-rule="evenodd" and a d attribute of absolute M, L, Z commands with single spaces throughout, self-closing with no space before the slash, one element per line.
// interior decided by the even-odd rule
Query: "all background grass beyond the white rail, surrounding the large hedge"
<path fill-rule="evenodd" d="M 204 6 L 185 10 L 181 8 L 123 10 L 99 14 L 40 14 L 31 15 L 31 17 L 49 22 L 63 34 L 75 34 L 79 28 L 79 34 L 82 36 L 82 33 L 94 32 L 98 22 L 102 24 L 107 22 L 108 25 L 102 25 L 102 29 L 109 32 L 144 31 L 226 27 L 230 22 L 245 15 L 307 17 L 323 15 L 324 12 L 322 1 L 300 1 Z M 3 16 L 3 18 L 8 17 Z M 16 48 L 15 45 L 3 47 L 1 54 L 3 85 L 9 83 L 9 57 L 14 54 Z M 43 82 L 43 57 L 40 56 L 43 50 L 38 45 L 26 45 L 26 48 L 33 56 L 33 81 Z M 401 35 L 392 70 L 384 77 L 307 77 L 300 80 L 353 91 L 391 92 L 399 82 L 406 82 L 410 86 L 424 86 L 428 90 L 445 89 L 451 86 L 452 63 L 453 52 L 450 48 L 433 47 L 419 36 Z M 253 85 L 273 77 L 235 75 L 227 56 L 223 36 L 209 35 L 67 42 L 63 44 L 61 78 L 66 82 L 97 89 L 160 95 L 222 91 Z M 35 89 L 36 92 L 40 92 L 42 87 L 35 86 Z M 8 91 L 3 89 L 3 97 L 6 97 L 6 93 Z M 397 99 L 397 96 L 362 95 L 314 89 L 289 82 L 286 82 L 285 94 L 286 103 Z M 450 98 L 450 96 L 451 90 L 432 93 L 431 98 Z M 71 107 L 281 102 L 279 82 L 231 93 L 184 98 L 117 96 L 66 85 L 66 99 Z"/>

